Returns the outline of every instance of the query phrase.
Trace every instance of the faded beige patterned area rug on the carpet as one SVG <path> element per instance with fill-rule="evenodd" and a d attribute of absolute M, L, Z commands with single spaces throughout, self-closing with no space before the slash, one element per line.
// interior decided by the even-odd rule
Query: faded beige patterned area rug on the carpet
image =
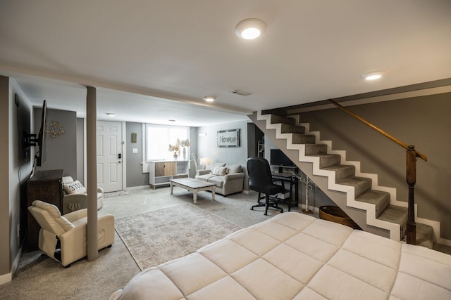
<path fill-rule="evenodd" d="M 141 270 L 193 253 L 241 228 L 194 204 L 127 216 L 115 223 Z"/>

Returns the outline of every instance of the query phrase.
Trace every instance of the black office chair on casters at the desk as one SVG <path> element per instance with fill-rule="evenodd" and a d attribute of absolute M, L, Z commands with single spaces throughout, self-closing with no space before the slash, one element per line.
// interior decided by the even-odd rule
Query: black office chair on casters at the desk
<path fill-rule="evenodd" d="M 271 168 L 266 159 L 262 157 L 249 157 L 247 159 L 247 172 L 249 174 L 249 188 L 256 192 L 259 192 L 257 199 L 257 205 L 251 207 L 266 207 L 265 215 L 268 214 L 268 208 L 278 209 L 283 212 L 283 209 L 278 207 L 278 202 L 275 198 L 271 198 L 271 195 L 277 193 L 283 193 L 283 185 L 278 185 L 273 182 L 273 176 L 271 175 Z M 265 194 L 261 197 L 261 194 Z M 265 202 L 260 202 L 261 199 L 266 199 Z"/>

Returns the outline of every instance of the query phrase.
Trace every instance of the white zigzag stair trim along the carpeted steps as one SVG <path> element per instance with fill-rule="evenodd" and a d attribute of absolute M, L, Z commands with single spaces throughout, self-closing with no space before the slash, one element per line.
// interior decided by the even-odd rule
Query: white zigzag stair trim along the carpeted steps
<path fill-rule="evenodd" d="M 295 119 L 296 119 L 296 117 L 295 117 Z M 319 159 L 320 158 L 306 156 L 305 155 L 305 145 L 293 144 L 292 143 L 292 133 L 282 133 L 281 132 L 281 126 L 282 126 L 281 124 L 271 124 L 271 115 L 270 114 L 261 115 L 261 111 L 258 111 L 257 112 L 257 120 L 266 122 L 266 129 L 275 130 L 276 138 L 285 139 L 287 141 L 286 148 L 288 150 L 298 150 L 299 162 L 311 163 L 312 167 L 313 167 L 314 176 L 323 176 L 323 177 L 328 178 L 328 181 L 327 181 L 328 189 L 345 193 L 346 194 L 346 205 L 348 207 L 353 207 L 356 209 L 361 209 L 363 211 L 366 211 L 366 224 L 368 224 L 369 226 L 376 227 L 376 228 L 382 228 L 384 230 L 388 230 L 391 240 L 400 241 L 400 238 L 401 238 L 400 237 L 400 225 L 376 219 L 376 206 L 374 204 L 356 201 L 355 197 L 354 197 L 354 195 L 355 195 L 354 187 L 349 186 L 349 185 L 341 185 L 341 184 L 335 183 L 335 171 L 319 169 L 319 165 L 320 165 Z M 299 119 L 296 119 L 296 122 L 299 124 Z M 305 126 L 305 124 L 302 124 L 302 126 Z M 307 129 L 309 129 L 308 124 L 306 127 L 306 131 L 307 131 Z M 307 132 L 306 132 L 306 134 L 307 134 Z M 309 132 L 309 134 L 314 134 L 316 136 L 316 138 L 317 138 L 316 143 L 327 144 L 329 154 L 338 154 L 338 155 L 340 155 L 342 162 L 346 162 L 345 158 L 344 158 L 346 155 L 345 151 L 330 151 L 329 152 L 329 150 L 332 149 L 330 141 L 321 141 L 321 139 L 319 138 L 318 132 Z M 352 164 L 352 162 L 346 162 L 346 164 Z M 361 174 L 362 177 L 364 177 L 363 174 L 360 172 L 360 164 L 354 164 L 354 166 L 356 167 L 356 175 L 357 175 L 357 169 L 359 169 L 359 174 Z M 376 178 L 376 183 L 377 183 L 377 176 L 373 175 L 373 174 L 371 174 L 371 175 L 372 175 L 371 178 Z M 368 176 L 366 176 L 366 177 L 368 177 Z M 396 193 L 396 192 L 392 191 L 392 193 Z M 391 202 L 392 193 L 390 193 L 390 202 Z"/>

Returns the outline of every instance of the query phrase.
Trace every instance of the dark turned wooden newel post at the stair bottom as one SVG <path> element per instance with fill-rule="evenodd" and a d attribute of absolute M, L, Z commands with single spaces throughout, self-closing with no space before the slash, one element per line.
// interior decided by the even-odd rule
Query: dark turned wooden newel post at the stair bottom
<path fill-rule="evenodd" d="M 407 244 L 416 244 L 414 188 L 416 183 L 415 146 L 407 149 L 407 184 L 409 185 L 409 202 L 407 207 Z"/>

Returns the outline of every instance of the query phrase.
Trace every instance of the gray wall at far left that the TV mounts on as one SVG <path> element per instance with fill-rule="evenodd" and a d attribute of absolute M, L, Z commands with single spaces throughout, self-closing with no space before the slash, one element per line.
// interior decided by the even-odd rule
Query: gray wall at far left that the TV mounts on
<path fill-rule="evenodd" d="M 19 107 L 16 106 L 15 94 L 19 96 Z M 20 257 L 20 184 L 25 183 L 31 173 L 30 151 L 27 159 L 21 150 L 20 138 L 22 130 L 32 132 L 32 105 L 18 86 L 8 77 L 0 76 L 0 283 L 11 280 L 14 268 Z M 18 116 L 18 117 L 17 117 Z M 25 186 L 25 185 L 23 185 Z M 21 229 L 20 229 L 21 230 Z"/>

